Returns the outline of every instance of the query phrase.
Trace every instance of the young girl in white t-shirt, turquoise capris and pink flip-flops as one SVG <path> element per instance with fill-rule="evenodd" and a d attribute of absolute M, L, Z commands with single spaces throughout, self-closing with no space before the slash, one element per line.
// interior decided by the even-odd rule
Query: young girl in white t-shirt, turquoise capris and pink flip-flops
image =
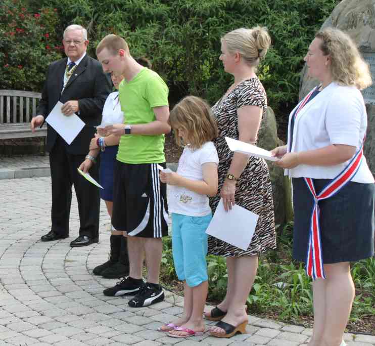
<path fill-rule="evenodd" d="M 171 185 L 169 211 L 172 212 L 174 267 L 184 282 L 183 315 L 159 328 L 169 336 L 203 334 L 203 309 L 208 290 L 207 234 L 212 213 L 207 196 L 217 193 L 219 158 L 211 142 L 218 136 L 209 105 L 188 96 L 172 109 L 169 117 L 176 143 L 184 146 L 177 172 L 160 172 L 160 180 Z"/>

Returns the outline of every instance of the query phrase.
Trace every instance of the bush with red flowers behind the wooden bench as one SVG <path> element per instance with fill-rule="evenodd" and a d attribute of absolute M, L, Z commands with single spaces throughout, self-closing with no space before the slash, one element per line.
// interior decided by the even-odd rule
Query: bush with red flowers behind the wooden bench
<path fill-rule="evenodd" d="M 0 18 L 0 89 L 40 91 L 47 66 L 63 56 L 57 10 L 33 13 L 26 0 L 3 0 Z"/>

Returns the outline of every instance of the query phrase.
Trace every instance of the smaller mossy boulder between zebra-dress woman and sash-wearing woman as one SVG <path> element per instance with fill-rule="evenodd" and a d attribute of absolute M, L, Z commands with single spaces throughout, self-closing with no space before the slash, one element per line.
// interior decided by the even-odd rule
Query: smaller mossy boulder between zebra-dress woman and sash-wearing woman
<path fill-rule="evenodd" d="M 277 137 L 276 118 L 270 107 L 267 107 L 266 115 L 259 129 L 257 145 L 266 150 L 272 150 L 277 146 L 284 145 L 282 140 Z M 271 161 L 266 162 L 271 176 L 275 223 L 276 225 L 283 225 L 293 219 L 290 182 L 288 178 L 284 178 L 283 169 L 275 166 Z"/>

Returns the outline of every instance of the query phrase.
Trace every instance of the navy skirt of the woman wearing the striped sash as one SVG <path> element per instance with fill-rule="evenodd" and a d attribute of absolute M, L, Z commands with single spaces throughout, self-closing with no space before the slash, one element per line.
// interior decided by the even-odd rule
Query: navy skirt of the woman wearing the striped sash
<path fill-rule="evenodd" d="M 330 179 L 313 179 L 319 193 Z M 306 262 L 313 198 L 303 178 L 293 178 L 293 258 Z M 319 201 L 323 263 L 354 262 L 374 254 L 374 184 L 349 182 Z"/>

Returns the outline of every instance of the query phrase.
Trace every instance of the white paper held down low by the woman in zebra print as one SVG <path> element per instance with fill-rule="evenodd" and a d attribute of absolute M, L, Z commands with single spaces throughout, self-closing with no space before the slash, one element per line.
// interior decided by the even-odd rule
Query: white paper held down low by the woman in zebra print
<path fill-rule="evenodd" d="M 206 233 L 231 245 L 247 250 L 253 238 L 258 215 L 235 204 L 225 211 L 222 198 Z"/>

